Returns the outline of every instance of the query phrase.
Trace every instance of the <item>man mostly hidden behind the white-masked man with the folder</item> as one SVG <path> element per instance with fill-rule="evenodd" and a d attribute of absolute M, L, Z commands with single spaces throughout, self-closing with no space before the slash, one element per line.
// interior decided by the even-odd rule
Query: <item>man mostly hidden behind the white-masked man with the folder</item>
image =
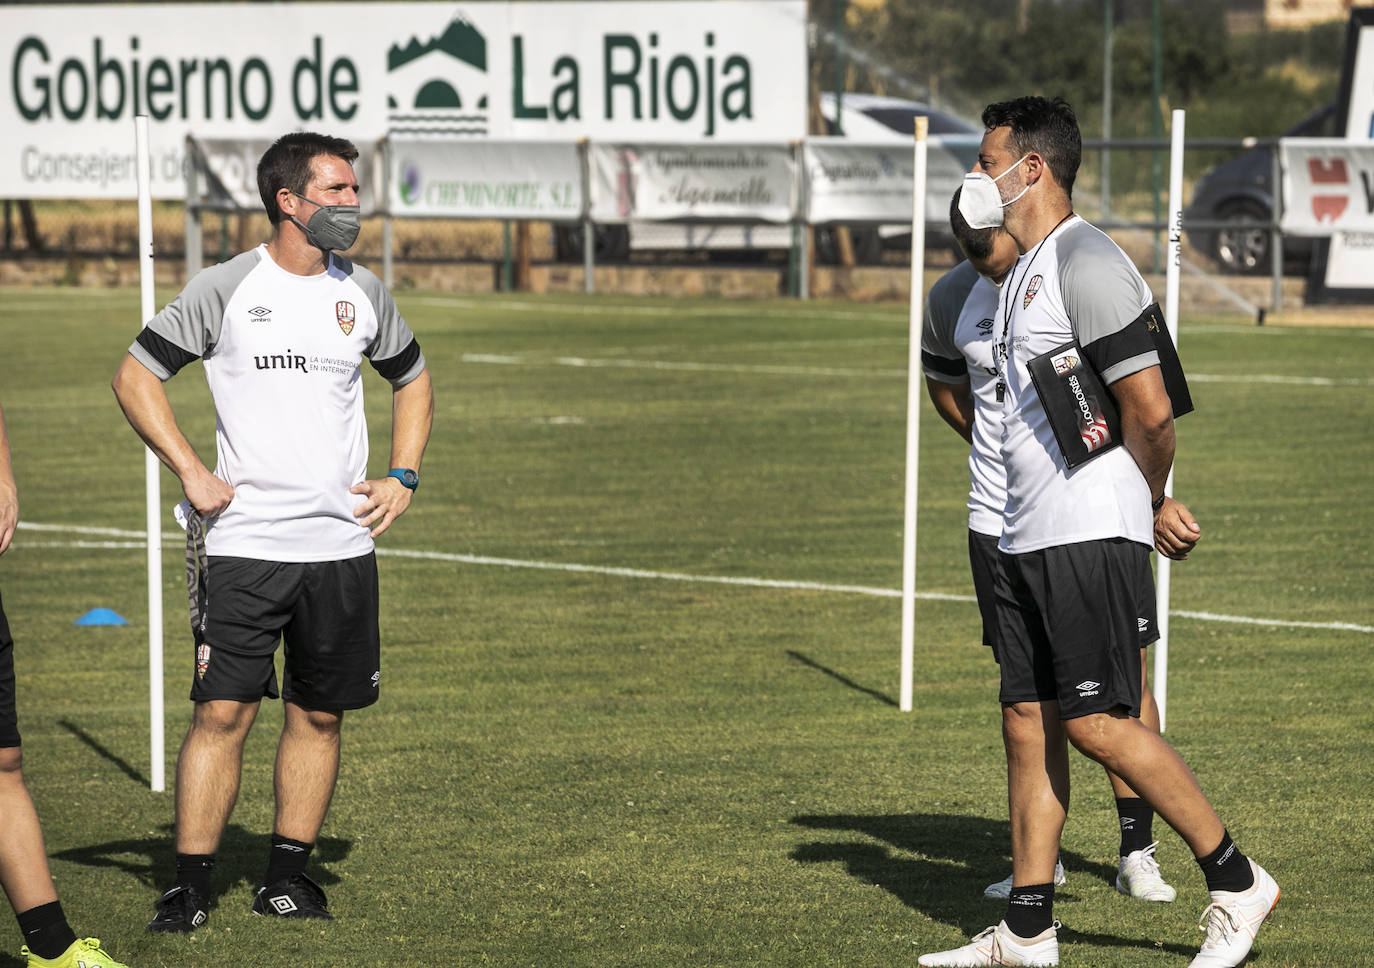
<path fill-rule="evenodd" d="M 998 538 L 1007 503 L 1007 472 L 1002 464 L 1002 411 L 996 401 L 998 368 L 992 358 L 993 317 L 998 292 L 1018 251 L 1015 239 L 1002 228 L 973 228 L 959 205 L 956 189 L 949 205 L 949 225 L 967 261 L 947 272 L 930 287 L 926 298 L 921 360 L 926 390 L 936 412 L 969 442 L 969 563 L 978 611 L 982 615 L 982 644 L 998 656 L 996 596 L 1000 573 Z M 1169 553 L 1161 548 L 1161 553 Z M 1140 577 L 1136 590 L 1136 622 L 1140 633 L 1140 718 L 1160 730 L 1158 707 L 1146 674 L 1147 647 L 1160 637 L 1154 615 L 1154 584 Z M 1117 806 L 1121 846 L 1116 887 L 1142 901 L 1173 901 L 1154 860 L 1154 811 L 1121 777 L 1107 770 Z M 1063 866 L 1055 864 L 1054 883 L 1065 883 Z M 1006 899 L 1011 876 L 989 884 L 984 895 Z"/>

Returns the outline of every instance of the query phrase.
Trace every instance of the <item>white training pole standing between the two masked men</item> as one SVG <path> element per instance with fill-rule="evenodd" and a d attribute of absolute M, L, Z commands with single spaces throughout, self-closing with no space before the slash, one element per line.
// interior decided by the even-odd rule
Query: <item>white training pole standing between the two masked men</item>
<path fill-rule="evenodd" d="M 921 317 L 926 269 L 926 118 L 916 118 L 911 187 L 911 317 L 907 335 L 907 503 L 901 529 L 901 700 L 911 711 L 916 632 L 916 470 L 921 453 Z"/>

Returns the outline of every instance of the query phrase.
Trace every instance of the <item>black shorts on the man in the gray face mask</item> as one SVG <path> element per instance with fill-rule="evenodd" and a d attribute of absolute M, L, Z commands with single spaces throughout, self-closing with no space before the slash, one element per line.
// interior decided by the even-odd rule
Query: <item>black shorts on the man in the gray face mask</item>
<path fill-rule="evenodd" d="M 319 710 L 376 702 L 376 556 L 339 562 L 207 559 L 205 643 L 191 699 L 253 703 L 280 695 Z M 282 689 L 273 654 L 284 641 Z"/>

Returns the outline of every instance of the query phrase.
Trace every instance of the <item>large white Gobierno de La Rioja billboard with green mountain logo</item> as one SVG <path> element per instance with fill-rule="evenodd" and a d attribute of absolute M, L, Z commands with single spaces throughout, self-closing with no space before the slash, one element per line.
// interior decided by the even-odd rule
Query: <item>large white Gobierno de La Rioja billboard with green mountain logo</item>
<path fill-rule="evenodd" d="M 0 7 L 0 195 L 184 194 L 187 135 L 787 141 L 801 0 Z"/>

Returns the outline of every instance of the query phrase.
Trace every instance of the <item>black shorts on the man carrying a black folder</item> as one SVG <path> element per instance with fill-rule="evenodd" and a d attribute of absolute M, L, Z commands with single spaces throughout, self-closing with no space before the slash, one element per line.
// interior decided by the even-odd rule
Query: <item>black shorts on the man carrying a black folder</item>
<path fill-rule="evenodd" d="M 1058 700 L 1062 719 L 1114 708 L 1139 715 L 1140 648 L 1158 637 L 1149 546 L 1080 541 L 1003 553 L 1002 567 L 999 699 Z"/>

